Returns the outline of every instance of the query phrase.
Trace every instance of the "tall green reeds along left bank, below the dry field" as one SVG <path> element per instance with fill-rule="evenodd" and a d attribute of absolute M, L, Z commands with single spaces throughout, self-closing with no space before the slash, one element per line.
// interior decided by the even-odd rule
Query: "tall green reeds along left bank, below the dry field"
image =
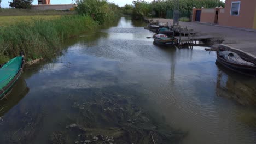
<path fill-rule="evenodd" d="M 22 51 L 27 59 L 50 58 L 61 43 L 98 24 L 89 16 L 62 16 L 59 19 L 32 19 L 0 27 L 0 62 Z"/>

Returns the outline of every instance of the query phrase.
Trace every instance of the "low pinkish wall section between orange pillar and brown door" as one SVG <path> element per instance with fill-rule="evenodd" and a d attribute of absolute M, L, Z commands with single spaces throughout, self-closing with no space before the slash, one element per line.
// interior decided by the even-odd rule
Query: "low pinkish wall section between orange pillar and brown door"
<path fill-rule="evenodd" d="M 201 22 L 214 23 L 215 9 L 202 9 L 201 10 Z"/>

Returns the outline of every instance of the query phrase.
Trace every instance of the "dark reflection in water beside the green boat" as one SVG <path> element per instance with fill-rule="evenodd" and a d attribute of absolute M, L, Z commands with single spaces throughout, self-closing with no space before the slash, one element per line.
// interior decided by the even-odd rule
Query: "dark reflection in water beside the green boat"
<path fill-rule="evenodd" d="M 27 95 L 29 88 L 23 77 L 20 77 L 7 95 L 7 98 L 0 101 L 0 117 L 12 109 L 19 101 Z"/>

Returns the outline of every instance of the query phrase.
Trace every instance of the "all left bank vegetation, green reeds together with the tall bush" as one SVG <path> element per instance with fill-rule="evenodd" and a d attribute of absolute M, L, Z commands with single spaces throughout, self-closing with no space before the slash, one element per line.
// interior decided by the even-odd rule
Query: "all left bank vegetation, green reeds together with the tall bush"
<path fill-rule="evenodd" d="M 100 28 L 105 23 L 119 19 L 121 14 L 117 5 L 105 0 L 76 2 L 77 13 L 73 15 L 52 16 L 52 19 L 44 19 L 45 16 L 40 15 L 36 19 L 26 19 L 24 16 L 18 22 L 1 26 L 0 63 L 19 55 L 20 52 L 24 52 L 28 61 L 51 58 L 61 50 L 65 39 Z M 90 11 L 88 7 L 91 8 Z"/>

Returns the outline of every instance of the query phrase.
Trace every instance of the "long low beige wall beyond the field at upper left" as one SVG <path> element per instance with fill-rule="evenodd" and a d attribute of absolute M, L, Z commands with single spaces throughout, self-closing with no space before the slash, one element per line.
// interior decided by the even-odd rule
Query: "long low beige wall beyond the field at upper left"
<path fill-rule="evenodd" d="M 51 5 L 32 5 L 31 9 L 34 10 L 67 10 L 74 8 L 74 4 L 51 4 Z"/>

